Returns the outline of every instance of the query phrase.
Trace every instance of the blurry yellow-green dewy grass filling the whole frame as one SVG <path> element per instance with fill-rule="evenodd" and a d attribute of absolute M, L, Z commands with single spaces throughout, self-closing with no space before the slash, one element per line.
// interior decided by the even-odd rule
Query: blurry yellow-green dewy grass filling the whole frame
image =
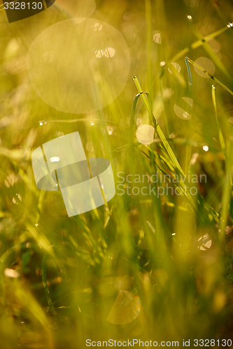
<path fill-rule="evenodd" d="M 227 0 L 217 8 L 206 0 L 195 8 L 183 1 L 118 1 L 117 8 L 110 0 L 97 1 L 91 17 L 124 36 L 129 78 L 106 107 L 70 114 L 36 94 L 25 61 L 38 34 L 67 13 L 57 5 L 8 24 L 0 11 L 4 348 L 85 348 L 86 339 L 179 341 L 180 346 L 183 339 L 233 341 L 231 12 Z M 153 40 L 158 32 L 161 44 Z M 76 45 L 76 38 L 69 40 Z M 198 57 L 213 61 L 214 76 L 195 63 Z M 101 76 L 104 93 L 111 94 L 118 75 Z M 155 128 L 154 142 L 137 140 L 140 123 Z M 36 188 L 31 152 L 75 131 L 88 158 L 111 161 L 116 195 L 68 218 L 61 193 Z M 176 194 L 170 189 L 160 195 L 165 188 L 160 174 L 167 174 Z M 184 192 L 188 175 L 206 176 L 192 183 L 195 195 L 190 188 Z M 153 188 L 150 195 L 143 195 L 145 186 Z M 126 297 L 114 307 L 122 290 L 133 301 Z"/>

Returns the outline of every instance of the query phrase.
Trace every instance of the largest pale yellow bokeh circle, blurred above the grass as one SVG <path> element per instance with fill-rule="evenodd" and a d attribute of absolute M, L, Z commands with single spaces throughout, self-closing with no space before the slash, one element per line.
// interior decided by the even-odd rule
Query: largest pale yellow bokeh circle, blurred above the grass
<path fill-rule="evenodd" d="M 120 32 L 83 18 L 52 25 L 34 40 L 27 55 L 37 94 L 57 110 L 77 114 L 111 103 L 127 83 L 129 64 Z"/>

